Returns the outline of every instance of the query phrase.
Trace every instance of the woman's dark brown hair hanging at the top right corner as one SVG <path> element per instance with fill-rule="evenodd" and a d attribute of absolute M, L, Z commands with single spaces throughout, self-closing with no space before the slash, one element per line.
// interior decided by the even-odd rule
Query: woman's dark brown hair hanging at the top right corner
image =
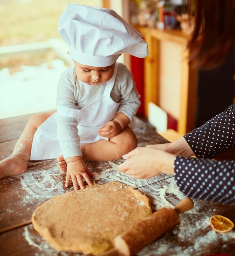
<path fill-rule="evenodd" d="M 216 67 L 234 54 L 235 0 L 196 0 L 195 27 L 187 47 L 189 61 L 202 69 Z"/>

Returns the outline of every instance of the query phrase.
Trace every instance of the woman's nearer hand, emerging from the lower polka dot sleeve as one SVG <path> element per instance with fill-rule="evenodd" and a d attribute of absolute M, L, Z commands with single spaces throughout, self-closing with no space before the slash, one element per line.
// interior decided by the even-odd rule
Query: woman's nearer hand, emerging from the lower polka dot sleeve
<path fill-rule="evenodd" d="M 117 166 L 117 171 L 133 179 L 149 179 L 160 173 L 173 174 L 175 157 L 154 147 L 135 148 L 124 156 L 126 161 Z"/>

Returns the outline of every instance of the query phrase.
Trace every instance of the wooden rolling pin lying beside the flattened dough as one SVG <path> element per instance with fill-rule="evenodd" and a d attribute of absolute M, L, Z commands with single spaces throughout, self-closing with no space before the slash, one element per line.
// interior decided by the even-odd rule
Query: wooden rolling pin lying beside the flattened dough
<path fill-rule="evenodd" d="M 98 254 L 98 256 L 131 256 L 136 254 L 146 245 L 162 236 L 178 224 L 178 214 L 193 208 L 191 198 L 182 199 L 174 209 L 163 207 L 151 216 L 144 218 L 139 224 L 133 226 L 123 234 L 115 237 L 114 248 Z"/>

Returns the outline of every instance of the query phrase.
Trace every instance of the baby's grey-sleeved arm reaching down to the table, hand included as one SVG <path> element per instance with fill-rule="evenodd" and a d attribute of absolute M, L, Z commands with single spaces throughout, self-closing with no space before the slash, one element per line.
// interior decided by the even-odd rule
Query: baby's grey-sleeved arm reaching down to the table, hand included
<path fill-rule="evenodd" d="M 60 78 L 57 88 L 57 107 L 66 107 L 67 111 L 76 108 L 73 84 L 74 67 L 66 70 Z M 63 157 L 67 162 L 67 176 L 65 186 L 69 186 L 72 179 L 74 189 L 84 188 L 83 179 L 92 185 L 89 177 L 93 176 L 82 159 L 80 138 L 78 136 L 78 120 L 61 112 L 58 108 L 57 133 Z"/>

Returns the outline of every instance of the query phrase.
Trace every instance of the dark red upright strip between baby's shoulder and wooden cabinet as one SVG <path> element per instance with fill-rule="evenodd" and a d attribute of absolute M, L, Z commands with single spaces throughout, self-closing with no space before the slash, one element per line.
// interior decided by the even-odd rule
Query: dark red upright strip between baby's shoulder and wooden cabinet
<path fill-rule="evenodd" d="M 135 81 L 135 87 L 140 94 L 140 107 L 137 114 L 144 115 L 144 58 L 131 55 L 131 74 Z"/>

